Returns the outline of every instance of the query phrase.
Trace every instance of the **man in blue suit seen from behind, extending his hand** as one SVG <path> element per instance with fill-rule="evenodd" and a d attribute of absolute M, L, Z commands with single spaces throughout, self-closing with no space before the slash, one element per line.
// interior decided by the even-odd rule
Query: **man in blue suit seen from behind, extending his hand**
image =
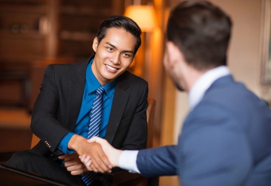
<path fill-rule="evenodd" d="M 113 166 L 187 185 L 271 185 L 271 112 L 226 67 L 231 20 L 205 1 L 185 1 L 168 21 L 164 65 L 189 95 L 178 144 L 121 151 L 93 138 Z M 81 161 L 92 170 L 89 157 Z"/>

